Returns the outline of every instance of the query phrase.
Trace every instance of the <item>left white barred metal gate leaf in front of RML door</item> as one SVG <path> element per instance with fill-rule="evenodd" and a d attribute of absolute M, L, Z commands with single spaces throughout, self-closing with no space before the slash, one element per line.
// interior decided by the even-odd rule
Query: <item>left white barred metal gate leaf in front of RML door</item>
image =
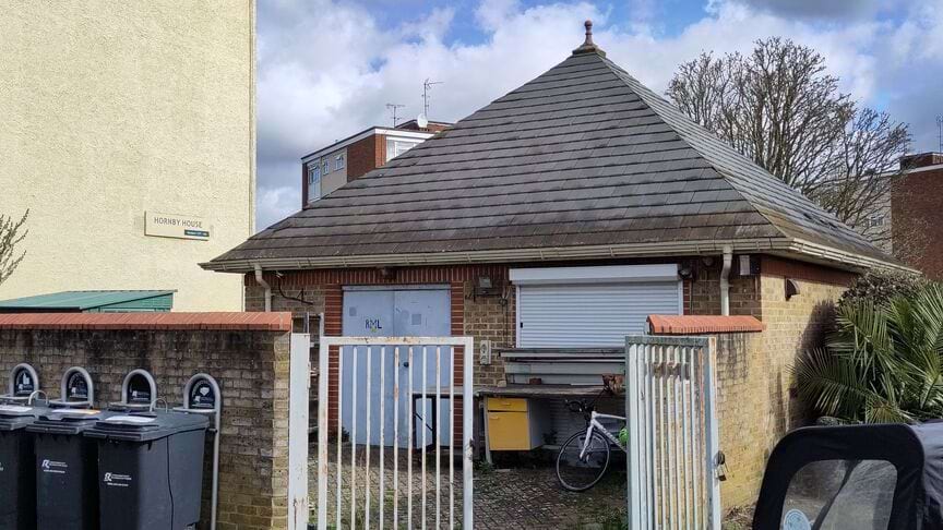
<path fill-rule="evenodd" d="M 422 529 L 474 528 L 470 361 L 474 351 L 470 337 L 321 337 L 319 530 L 326 530 L 329 521 L 334 528 L 351 529 L 395 529 L 403 525 Z M 414 361 L 425 363 L 429 359 L 435 363 L 433 381 L 427 377 L 432 371 L 425 369 L 414 377 L 410 368 Z M 404 363 L 410 368 L 405 377 L 401 377 L 399 370 L 387 370 L 387 365 Z M 455 369 L 443 374 L 443 366 Z M 461 378 L 455 377 L 459 369 Z M 358 376 L 361 371 L 363 377 Z M 342 378 L 339 374 L 354 375 Z M 373 388 L 374 385 L 379 388 Z M 406 400 L 399 399 L 403 394 Z M 390 395 L 393 399 L 385 399 Z M 462 401 L 457 413 L 456 400 Z M 444 409 L 443 401 L 447 402 Z M 429 408 L 435 411 L 431 419 L 426 413 Z M 363 421 L 357 420 L 357 413 L 365 414 Z M 343 421 L 350 414 L 350 421 Z M 401 414 L 409 419 L 405 433 Z M 458 451 L 455 451 L 456 415 L 461 415 L 462 422 Z M 351 432 L 346 432 L 345 425 Z M 357 433 L 361 427 L 366 429 L 362 435 Z M 333 441 L 329 439 L 329 432 Z M 387 443 L 391 436 L 392 444 Z M 357 443 L 374 438 L 378 443 L 373 445 Z M 457 472 L 456 456 L 462 461 Z M 461 497 L 456 490 L 461 490 Z M 456 513 L 456 497 L 461 515 Z"/>

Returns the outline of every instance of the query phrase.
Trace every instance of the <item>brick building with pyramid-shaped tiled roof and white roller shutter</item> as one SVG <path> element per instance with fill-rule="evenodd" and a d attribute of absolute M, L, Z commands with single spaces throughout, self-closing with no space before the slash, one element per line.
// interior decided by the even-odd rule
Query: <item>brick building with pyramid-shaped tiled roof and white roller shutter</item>
<path fill-rule="evenodd" d="M 833 301 L 861 270 L 900 265 L 587 36 L 537 79 L 203 266 L 243 274 L 249 310 L 323 313 L 326 335 L 489 341 L 490 363 L 470 358 L 480 385 L 506 381 L 502 351 L 619 347 L 649 314 L 755 316 L 765 330 L 719 360 L 730 506 L 752 501 L 765 455 L 803 420 L 789 370 Z"/>

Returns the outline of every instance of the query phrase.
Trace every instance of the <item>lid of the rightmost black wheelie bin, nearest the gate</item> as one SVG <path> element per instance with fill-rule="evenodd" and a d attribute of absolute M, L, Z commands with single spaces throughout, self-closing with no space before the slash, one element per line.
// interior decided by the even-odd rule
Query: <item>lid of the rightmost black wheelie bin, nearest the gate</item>
<path fill-rule="evenodd" d="M 85 436 L 122 442 L 152 442 L 175 434 L 203 431 L 210 419 L 184 412 L 119 413 L 97 421 Z"/>

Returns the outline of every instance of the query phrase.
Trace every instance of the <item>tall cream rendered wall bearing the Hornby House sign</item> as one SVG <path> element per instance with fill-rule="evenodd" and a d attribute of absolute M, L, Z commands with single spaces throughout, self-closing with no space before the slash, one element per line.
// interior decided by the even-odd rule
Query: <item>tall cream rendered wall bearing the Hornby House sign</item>
<path fill-rule="evenodd" d="M 241 277 L 198 263 L 254 231 L 253 0 L 46 2 L 0 10 L 0 213 L 29 208 L 0 299 L 177 289 L 239 310 Z M 144 213 L 203 217 L 210 241 L 144 236 Z"/>

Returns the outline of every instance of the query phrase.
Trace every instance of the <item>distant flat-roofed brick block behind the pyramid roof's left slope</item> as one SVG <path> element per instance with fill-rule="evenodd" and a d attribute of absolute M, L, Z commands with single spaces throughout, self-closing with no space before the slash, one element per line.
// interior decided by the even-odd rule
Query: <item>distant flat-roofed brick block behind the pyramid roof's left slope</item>
<path fill-rule="evenodd" d="M 372 127 L 301 158 L 301 207 L 383 166 L 450 123 L 409 120 Z"/>

